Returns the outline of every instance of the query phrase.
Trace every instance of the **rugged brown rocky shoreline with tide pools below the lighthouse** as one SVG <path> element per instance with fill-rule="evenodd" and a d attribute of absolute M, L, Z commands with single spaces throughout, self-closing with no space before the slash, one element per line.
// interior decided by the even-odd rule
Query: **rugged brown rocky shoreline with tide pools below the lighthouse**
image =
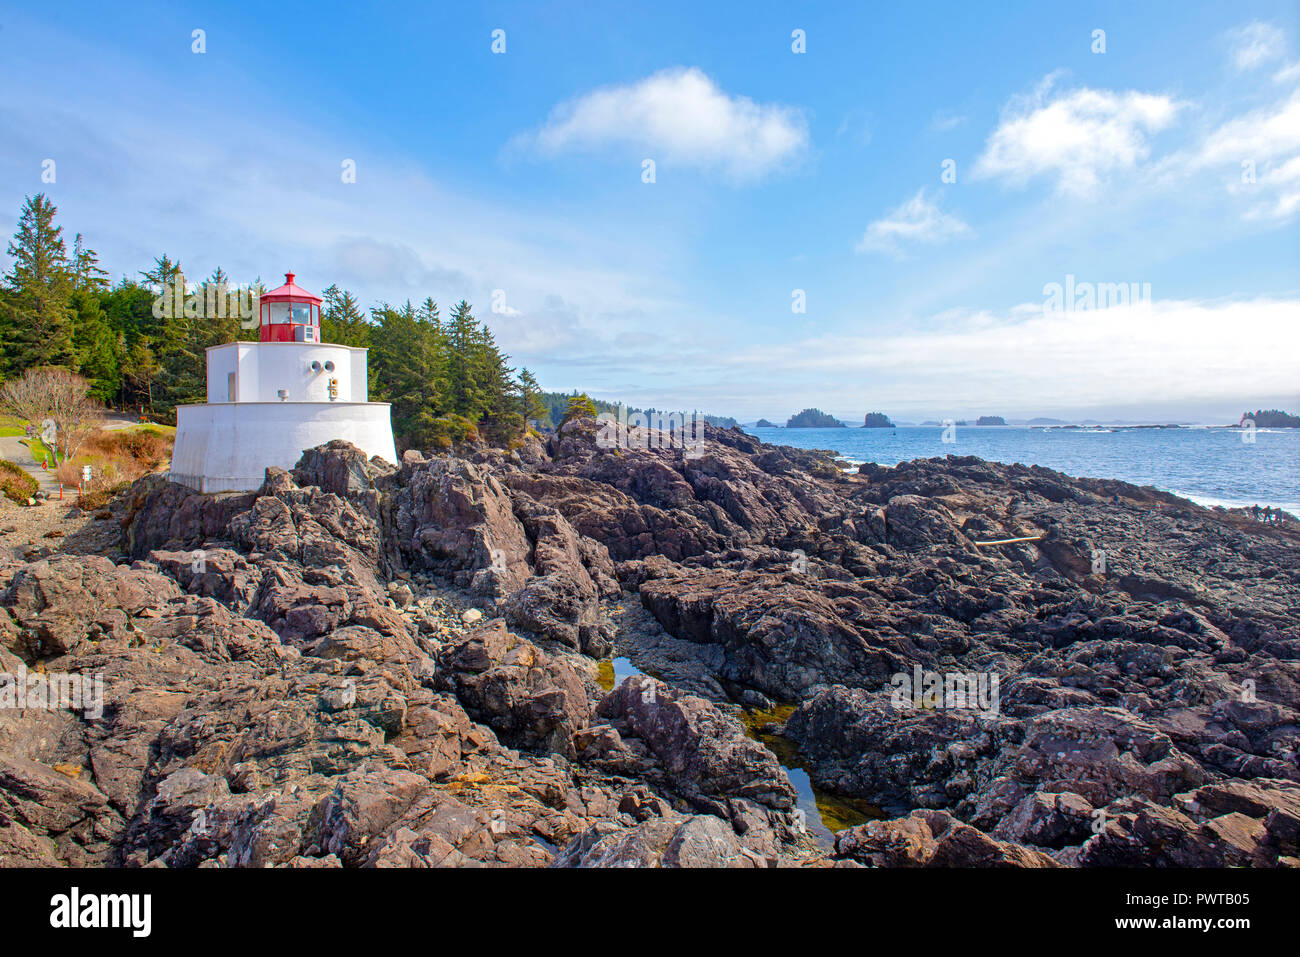
<path fill-rule="evenodd" d="M 1300 865 L 1294 528 L 597 434 L 150 476 L 113 547 L 0 558 L 0 672 L 104 688 L 0 711 L 0 865 Z M 746 733 L 779 705 L 884 818 L 814 837 Z"/>

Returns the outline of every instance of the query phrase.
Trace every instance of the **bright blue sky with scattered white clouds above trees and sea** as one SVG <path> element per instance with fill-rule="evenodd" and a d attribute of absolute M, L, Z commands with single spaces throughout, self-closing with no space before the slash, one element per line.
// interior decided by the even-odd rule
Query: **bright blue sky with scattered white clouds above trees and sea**
<path fill-rule="evenodd" d="M 114 276 L 467 298 L 660 408 L 1300 406 L 1300 4 L 842 7 L 6 14 L 0 229 L 46 190 Z M 1045 309 L 1067 276 L 1150 300 Z"/>

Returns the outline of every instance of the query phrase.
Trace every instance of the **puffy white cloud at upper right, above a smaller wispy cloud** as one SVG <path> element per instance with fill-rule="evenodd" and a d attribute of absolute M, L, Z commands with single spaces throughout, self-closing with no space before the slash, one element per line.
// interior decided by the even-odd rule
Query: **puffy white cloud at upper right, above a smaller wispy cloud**
<path fill-rule="evenodd" d="M 1054 75 L 1015 98 L 975 164 L 979 178 L 1023 183 L 1056 177 L 1062 192 L 1088 192 L 1150 153 L 1148 134 L 1169 126 L 1182 104 L 1160 94 L 1082 87 L 1052 95 Z"/>

